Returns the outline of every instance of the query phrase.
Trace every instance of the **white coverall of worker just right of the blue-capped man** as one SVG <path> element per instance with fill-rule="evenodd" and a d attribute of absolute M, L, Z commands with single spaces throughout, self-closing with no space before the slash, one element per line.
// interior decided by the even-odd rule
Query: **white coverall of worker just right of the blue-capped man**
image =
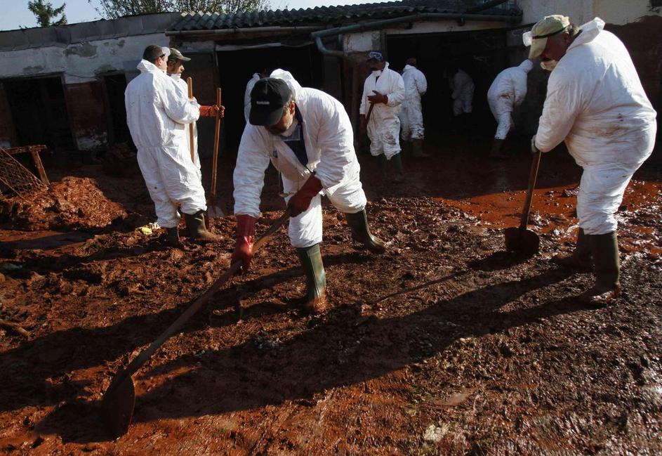
<path fill-rule="evenodd" d="M 421 96 L 428 91 L 428 80 L 425 74 L 412 65 L 404 65 L 402 70 L 404 82 L 404 100 L 400 111 L 400 124 L 402 124 L 402 139 L 423 139 L 423 110 L 421 109 Z"/>

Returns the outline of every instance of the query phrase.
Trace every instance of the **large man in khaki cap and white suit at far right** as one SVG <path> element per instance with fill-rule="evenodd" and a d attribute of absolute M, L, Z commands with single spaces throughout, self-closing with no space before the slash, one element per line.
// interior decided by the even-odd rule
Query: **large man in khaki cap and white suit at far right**
<path fill-rule="evenodd" d="M 576 249 L 555 261 L 571 268 L 593 266 L 595 285 L 582 298 L 608 302 L 620 293 L 615 212 L 634 172 L 654 147 L 656 112 L 628 51 L 600 18 L 576 27 L 551 15 L 524 34 L 529 58 L 550 70 L 547 98 L 532 152 L 565 141 L 583 168 L 577 197 Z"/>

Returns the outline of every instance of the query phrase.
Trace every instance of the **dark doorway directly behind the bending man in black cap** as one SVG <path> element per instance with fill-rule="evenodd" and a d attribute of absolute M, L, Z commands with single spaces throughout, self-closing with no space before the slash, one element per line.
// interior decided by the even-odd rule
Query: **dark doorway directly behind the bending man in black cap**
<path fill-rule="evenodd" d="M 244 92 L 253 73 L 266 68 L 288 70 L 303 87 L 322 89 L 322 55 L 315 46 L 248 48 L 219 51 L 220 86 L 225 105 L 226 145 L 229 150 L 239 147 L 244 131 Z"/>

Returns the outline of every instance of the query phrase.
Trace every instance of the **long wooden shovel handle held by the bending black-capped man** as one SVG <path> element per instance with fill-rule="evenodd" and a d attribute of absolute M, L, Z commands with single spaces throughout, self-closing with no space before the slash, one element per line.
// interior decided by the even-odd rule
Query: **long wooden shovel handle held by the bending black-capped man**
<path fill-rule="evenodd" d="M 272 235 L 274 235 L 274 233 L 276 233 L 276 231 L 283 225 L 283 223 L 285 223 L 285 221 L 289 219 L 289 216 L 290 216 L 290 210 L 287 209 L 277 221 L 274 221 L 274 223 L 272 223 L 272 225 L 265 231 L 265 233 L 263 233 L 263 235 L 260 236 L 258 240 L 256 240 L 255 244 L 253 245 L 253 253 L 257 253 L 258 250 L 271 239 Z M 168 329 L 165 330 L 157 340 L 153 341 L 152 345 L 148 346 L 147 348 L 145 348 L 145 350 L 140 352 L 140 355 L 138 355 L 133 361 L 131 361 L 131 363 L 129 363 L 126 369 L 124 371 L 121 371 L 119 375 L 122 375 L 123 378 L 131 377 L 131 375 L 133 375 L 138 369 L 140 369 L 140 367 L 143 364 L 145 364 L 147 360 L 150 359 L 150 357 L 154 354 L 154 352 L 156 352 L 159 349 L 159 347 L 161 347 L 161 345 L 164 344 L 166 340 L 170 339 L 173 336 L 173 334 L 175 334 L 180 329 L 180 327 L 182 327 L 182 325 L 186 323 L 189 318 L 191 318 L 191 316 L 194 313 L 199 311 L 199 309 L 204 304 L 206 304 L 206 302 L 213 296 L 213 294 L 218 291 L 221 285 L 225 284 L 225 282 L 227 282 L 227 280 L 230 279 L 232 275 L 234 275 L 235 273 L 237 273 L 237 271 L 239 271 L 239 268 L 241 268 L 242 264 L 244 264 L 243 260 L 235 261 L 234 263 L 232 263 L 230 268 L 227 271 L 225 271 L 225 273 L 223 273 L 223 275 L 221 275 L 218 279 L 216 279 L 216 282 L 213 282 L 211 287 L 209 287 L 206 292 L 204 292 L 199 297 L 197 297 L 195 301 L 193 301 L 193 304 L 191 304 L 191 306 L 187 308 L 186 311 L 182 315 L 180 315 L 177 320 L 175 320 L 170 326 L 168 326 Z M 119 383 L 122 380 L 123 379 L 118 379 L 117 383 Z"/>

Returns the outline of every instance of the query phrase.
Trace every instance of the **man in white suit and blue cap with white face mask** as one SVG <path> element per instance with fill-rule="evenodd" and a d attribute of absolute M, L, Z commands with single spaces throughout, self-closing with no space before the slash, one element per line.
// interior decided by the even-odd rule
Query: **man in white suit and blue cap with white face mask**
<path fill-rule="evenodd" d="M 400 105 L 404 100 L 402 76 L 388 67 L 379 51 L 371 51 L 368 65 L 372 70 L 363 85 L 359 117 L 361 131 L 368 133 L 370 153 L 377 157 L 383 178 L 388 162 L 393 163 L 397 183 L 404 181 L 400 155 Z"/>

